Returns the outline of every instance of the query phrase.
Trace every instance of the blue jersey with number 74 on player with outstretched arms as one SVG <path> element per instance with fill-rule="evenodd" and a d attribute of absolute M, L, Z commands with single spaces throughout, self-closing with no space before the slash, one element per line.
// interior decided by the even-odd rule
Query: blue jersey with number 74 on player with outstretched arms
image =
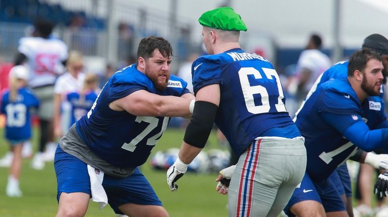
<path fill-rule="evenodd" d="M 169 118 L 113 111 L 109 103 L 138 90 L 181 96 L 189 93 L 186 85 L 171 75 L 167 88 L 160 91 L 135 64 L 127 66 L 105 84 L 88 114 L 76 122 L 77 131 L 88 147 L 108 163 L 122 168 L 142 165 L 165 131 Z"/>

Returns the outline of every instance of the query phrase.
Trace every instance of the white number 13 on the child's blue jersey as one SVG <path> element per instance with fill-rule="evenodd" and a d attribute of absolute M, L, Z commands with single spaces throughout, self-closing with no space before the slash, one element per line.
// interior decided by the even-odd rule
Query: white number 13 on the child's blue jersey
<path fill-rule="evenodd" d="M 6 112 L 8 127 L 23 127 L 26 125 L 27 107 L 25 104 L 8 104 Z"/>

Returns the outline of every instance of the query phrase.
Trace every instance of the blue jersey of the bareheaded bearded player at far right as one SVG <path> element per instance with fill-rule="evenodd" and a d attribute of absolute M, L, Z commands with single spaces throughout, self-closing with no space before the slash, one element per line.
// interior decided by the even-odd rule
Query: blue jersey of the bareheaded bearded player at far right
<path fill-rule="evenodd" d="M 356 122 L 365 122 L 371 130 L 385 128 L 383 111 L 384 102 L 378 96 L 370 96 L 361 103 L 347 79 L 321 84 L 305 101 L 295 122 L 305 138 L 306 170 L 311 179 L 329 177 L 357 151 L 338 129 L 347 129 Z M 346 121 L 338 121 L 336 115 L 346 117 Z"/>

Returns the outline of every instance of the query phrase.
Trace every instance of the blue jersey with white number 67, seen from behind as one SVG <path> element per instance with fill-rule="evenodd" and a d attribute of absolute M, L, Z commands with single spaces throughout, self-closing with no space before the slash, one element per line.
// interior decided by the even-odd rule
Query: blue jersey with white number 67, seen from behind
<path fill-rule="evenodd" d="M 300 136 L 286 111 L 279 76 L 267 59 L 232 49 L 198 58 L 191 71 L 195 93 L 207 85 L 220 85 L 215 123 L 236 154 L 259 136 Z"/>

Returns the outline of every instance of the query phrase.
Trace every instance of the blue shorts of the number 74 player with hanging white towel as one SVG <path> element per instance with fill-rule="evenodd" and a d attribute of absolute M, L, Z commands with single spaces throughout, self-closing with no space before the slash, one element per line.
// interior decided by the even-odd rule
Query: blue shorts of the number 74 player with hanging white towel
<path fill-rule="evenodd" d="M 92 194 L 87 164 L 70 155 L 59 147 L 56 148 L 54 168 L 57 179 L 57 196 L 62 192 L 84 192 Z M 123 214 L 118 206 L 126 203 L 141 205 L 162 205 L 146 177 L 135 169 L 134 173 L 125 178 L 104 175 L 102 186 L 108 196 L 108 203 L 115 213 Z"/>

